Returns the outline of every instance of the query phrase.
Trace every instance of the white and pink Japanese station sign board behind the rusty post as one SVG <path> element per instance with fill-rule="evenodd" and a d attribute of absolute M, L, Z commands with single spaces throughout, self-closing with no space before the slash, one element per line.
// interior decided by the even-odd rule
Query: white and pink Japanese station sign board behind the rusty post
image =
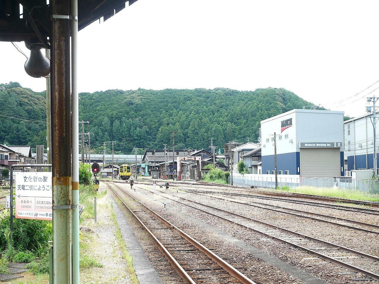
<path fill-rule="evenodd" d="M 16 218 L 53 219 L 51 172 L 17 172 Z"/>

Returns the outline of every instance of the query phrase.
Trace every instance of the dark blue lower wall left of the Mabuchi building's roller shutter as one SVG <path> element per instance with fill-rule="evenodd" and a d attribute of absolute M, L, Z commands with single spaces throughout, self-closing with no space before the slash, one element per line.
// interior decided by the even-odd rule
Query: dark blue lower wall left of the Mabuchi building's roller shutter
<path fill-rule="evenodd" d="M 300 174 L 300 152 L 277 154 L 277 171 L 290 171 L 290 175 Z M 262 174 L 275 170 L 275 155 L 262 156 Z"/>

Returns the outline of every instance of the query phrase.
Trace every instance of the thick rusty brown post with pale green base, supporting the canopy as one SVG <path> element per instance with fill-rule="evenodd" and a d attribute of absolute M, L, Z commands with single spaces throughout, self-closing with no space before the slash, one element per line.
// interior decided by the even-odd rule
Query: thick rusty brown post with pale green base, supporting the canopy
<path fill-rule="evenodd" d="M 72 282 L 70 2 L 52 0 L 50 5 L 52 7 L 50 42 L 52 44 L 53 271 L 54 284 L 69 284 Z"/>

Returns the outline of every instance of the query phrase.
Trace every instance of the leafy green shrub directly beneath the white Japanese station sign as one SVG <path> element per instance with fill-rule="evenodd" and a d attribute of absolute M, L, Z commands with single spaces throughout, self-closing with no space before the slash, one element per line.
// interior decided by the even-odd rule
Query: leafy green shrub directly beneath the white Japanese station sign
<path fill-rule="evenodd" d="M 9 214 L 9 213 L 8 213 Z M 45 253 L 48 242 L 52 240 L 52 222 L 46 220 L 13 219 L 13 244 L 9 233 L 9 215 L 0 219 L 0 250 L 8 250 L 8 255 L 15 255 L 13 247 L 18 251 L 32 251 L 37 254 Z"/>

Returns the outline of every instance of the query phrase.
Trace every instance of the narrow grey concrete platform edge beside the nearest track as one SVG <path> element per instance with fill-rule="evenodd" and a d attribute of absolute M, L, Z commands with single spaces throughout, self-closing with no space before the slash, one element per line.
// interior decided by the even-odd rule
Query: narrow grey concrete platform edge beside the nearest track
<path fill-rule="evenodd" d="M 143 284 L 163 284 L 158 273 L 155 271 L 149 258 L 147 258 L 141 244 L 139 243 L 133 229 L 125 219 L 119 205 L 113 197 L 110 196 L 113 204 L 113 211 L 116 214 L 117 224 L 119 225 L 122 239 L 124 239 L 127 250 L 130 256 L 133 257 L 133 267 L 136 272 L 139 283 Z"/>

